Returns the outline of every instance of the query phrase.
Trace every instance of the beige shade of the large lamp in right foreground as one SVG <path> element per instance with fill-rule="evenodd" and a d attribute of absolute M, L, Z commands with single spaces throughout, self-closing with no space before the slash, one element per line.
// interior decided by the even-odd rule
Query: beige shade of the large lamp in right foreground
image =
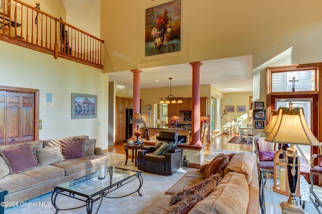
<path fill-rule="evenodd" d="M 319 146 L 308 128 L 302 108 L 279 108 L 276 124 L 265 141 Z"/>

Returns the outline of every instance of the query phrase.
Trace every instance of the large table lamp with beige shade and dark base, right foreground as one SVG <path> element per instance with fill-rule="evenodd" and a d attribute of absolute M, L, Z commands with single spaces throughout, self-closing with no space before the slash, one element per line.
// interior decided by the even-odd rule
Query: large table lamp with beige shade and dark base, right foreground
<path fill-rule="evenodd" d="M 304 213 L 296 200 L 296 183 L 298 177 L 298 155 L 294 144 L 319 146 L 311 130 L 308 128 L 302 108 L 279 108 L 276 124 L 265 141 L 290 144 L 286 150 L 287 175 L 290 196 L 280 203 L 282 213 Z"/>

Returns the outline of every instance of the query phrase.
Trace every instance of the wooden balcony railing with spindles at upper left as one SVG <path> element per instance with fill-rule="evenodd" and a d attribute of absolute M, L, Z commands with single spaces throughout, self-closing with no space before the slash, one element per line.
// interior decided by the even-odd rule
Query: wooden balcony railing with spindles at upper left
<path fill-rule="evenodd" d="M 103 40 L 19 0 L 0 0 L 0 40 L 103 68 Z"/>

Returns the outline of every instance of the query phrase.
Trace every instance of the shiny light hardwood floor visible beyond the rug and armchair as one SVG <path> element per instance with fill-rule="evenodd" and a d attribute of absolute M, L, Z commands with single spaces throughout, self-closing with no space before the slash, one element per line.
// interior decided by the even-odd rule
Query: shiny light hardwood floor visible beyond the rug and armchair
<path fill-rule="evenodd" d="M 252 145 L 244 145 L 244 144 L 235 144 L 235 143 L 227 143 L 230 138 L 234 135 L 220 135 L 214 137 L 209 145 L 209 150 L 205 150 L 205 157 L 208 156 L 213 150 L 221 149 L 221 150 L 229 150 L 229 151 L 241 151 L 241 152 L 250 152 L 252 151 Z M 109 152 L 125 154 L 124 143 L 118 143 L 116 146 L 110 146 Z M 129 152 L 129 157 L 131 157 L 131 152 Z"/>

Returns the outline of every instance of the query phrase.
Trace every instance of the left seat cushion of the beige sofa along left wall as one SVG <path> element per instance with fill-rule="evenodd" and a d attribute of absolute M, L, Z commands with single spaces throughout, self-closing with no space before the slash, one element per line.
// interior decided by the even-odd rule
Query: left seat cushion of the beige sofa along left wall
<path fill-rule="evenodd" d="M 59 167 L 45 165 L 35 167 L 17 174 L 9 174 L 0 179 L 0 188 L 9 193 L 47 183 L 64 176 L 64 170 Z M 36 187 L 35 187 L 36 188 Z"/>

